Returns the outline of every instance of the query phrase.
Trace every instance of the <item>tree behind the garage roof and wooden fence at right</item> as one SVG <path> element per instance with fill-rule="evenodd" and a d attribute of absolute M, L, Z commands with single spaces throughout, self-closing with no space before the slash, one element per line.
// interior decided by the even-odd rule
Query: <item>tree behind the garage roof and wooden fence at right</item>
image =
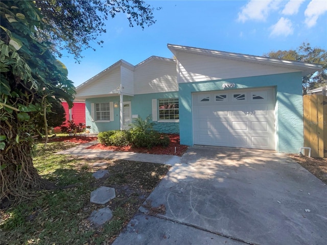
<path fill-rule="evenodd" d="M 322 65 L 322 70 L 302 77 L 303 88 L 308 90 L 327 84 L 327 51 L 323 50 L 322 48 L 311 47 L 310 43 L 302 43 L 302 45 L 296 48 L 296 50 L 278 50 L 276 52 L 271 51 L 264 56 L 275 59 L 320 64 Z"/>

